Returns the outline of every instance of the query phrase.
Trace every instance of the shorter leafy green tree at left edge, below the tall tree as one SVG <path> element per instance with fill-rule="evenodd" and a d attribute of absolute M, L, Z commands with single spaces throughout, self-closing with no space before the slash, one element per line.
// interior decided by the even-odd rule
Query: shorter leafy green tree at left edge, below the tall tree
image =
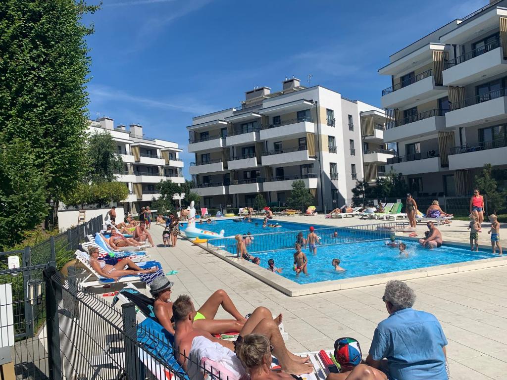
<path fill-rule="evenodd" d="M 48 214 L 47 170 L 37 167 L 28 141 L 0 146 L 0 251 L 21 242 Z"/>

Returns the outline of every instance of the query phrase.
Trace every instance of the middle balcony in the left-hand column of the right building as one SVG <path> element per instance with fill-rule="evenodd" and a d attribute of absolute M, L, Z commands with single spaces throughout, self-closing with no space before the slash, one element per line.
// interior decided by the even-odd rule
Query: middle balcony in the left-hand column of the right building
<path fill-rule="evenodd" d="M 445 111 L 431 109 L 402 119 L 400 122 L 389 122 L 384 132 L 384 142 L 396 142 L 414 138 L 414 136 L 429 136 L 446 128 Z"/>

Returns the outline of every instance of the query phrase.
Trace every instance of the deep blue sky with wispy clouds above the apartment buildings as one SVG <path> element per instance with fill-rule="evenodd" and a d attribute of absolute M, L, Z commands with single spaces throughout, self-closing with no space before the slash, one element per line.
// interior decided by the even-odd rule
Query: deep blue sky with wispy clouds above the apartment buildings
<path fill-rule="evenodd" d="M 92 0 L 89 0 L 93 4 Z M 488 0 L 103 0 L 87 16 L 89 117 L 178 142 L 192 117 L 239 105 L 293 75 L 380 105 L 389 55 Z M 410 4 L 410 6 L 408 6 Z M 435 12 L 435 10 L 439 10 Z"/>

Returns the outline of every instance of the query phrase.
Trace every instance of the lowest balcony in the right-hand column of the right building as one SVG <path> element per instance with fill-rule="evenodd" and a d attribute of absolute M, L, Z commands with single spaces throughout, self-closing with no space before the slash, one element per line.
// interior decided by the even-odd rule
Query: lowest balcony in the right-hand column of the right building
<path fill-rule="evenodd" d="M 461 145 L 451 148 L 449 169 L 482 168 L 484 164 L 505 165 L 507 139 L 499 138 L 475 145 Z"/>

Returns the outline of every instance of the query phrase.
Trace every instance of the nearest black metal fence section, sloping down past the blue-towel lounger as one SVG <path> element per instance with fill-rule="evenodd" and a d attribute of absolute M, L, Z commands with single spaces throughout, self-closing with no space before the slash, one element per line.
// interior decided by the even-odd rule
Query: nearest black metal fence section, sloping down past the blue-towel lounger
<path fill-rule="evenodd" d="M 194 380 L 206 373 L 210 380 L 228 379 L 174 350 L 172 336 L 136 319 L 133 303 L 120 309 L 86 293 L 71 269 L 69 277 L 45 271 L 45 286 L 49 378 Z M 194 370 L 185 372 L 174 360 L 177 355 Z"/>

